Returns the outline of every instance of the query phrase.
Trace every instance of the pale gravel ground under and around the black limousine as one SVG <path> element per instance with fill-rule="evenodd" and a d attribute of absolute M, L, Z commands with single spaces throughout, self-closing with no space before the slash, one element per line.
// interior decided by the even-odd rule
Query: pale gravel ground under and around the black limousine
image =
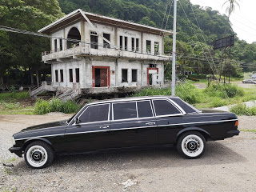
<path fill-rule="evenodd" d="M 61 156 L 32 170 L 10 154 L 11 135 L 26 126 L 69 118 L 66 114 L 0 115 L 0 191 L 255 191 L 256 134 L 242 132 L 207 142 L 202 158 L 181 158 L 174 148 Z M 239 117 L 256 130 L 256 117 Z M 14 164 L 13 167 L 3 166 Z"/>

